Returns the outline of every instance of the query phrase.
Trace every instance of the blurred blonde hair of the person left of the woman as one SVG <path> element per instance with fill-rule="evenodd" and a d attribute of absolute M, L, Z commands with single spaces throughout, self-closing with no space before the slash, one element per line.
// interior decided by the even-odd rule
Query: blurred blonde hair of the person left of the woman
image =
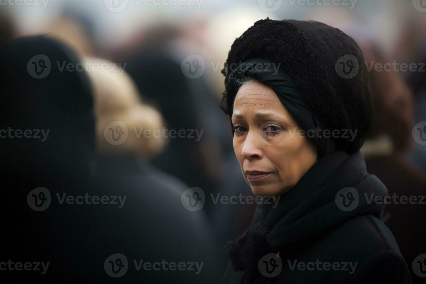
<path fill-rule="evenodd" d="M 105 63 L 108 66 L 114 65 L 108 60 L 94 57 L 86 57 L 83 62 L 87 64 L 86 66 L 93 66 L 95 63 L 104 64 L 104 66 Z M 161 152 L 166 140 L 153 135 L 144 137 L 143 133 L 146 129 L 149 129 L 151 133 L 155 129 L 161 129 L 164 126 L 163 117 L 156 109 L 141 102 L 141 97 L 130 76 L 124 70 L 118 70 L 118 66 L 115 67 L 115 71 L 110 68 L 107 71 L 102 68 L 98 71 L 86 68 L 95 94 L 95 132 L 98 152 L 105 155 L 136 155 L 152 158 Z M 105 128 L 107 126 L 114 128 L 116 121 L 123 121 L 128 129 L 128 137 L 120 145 L 113 145 L 104 137 Z"/>

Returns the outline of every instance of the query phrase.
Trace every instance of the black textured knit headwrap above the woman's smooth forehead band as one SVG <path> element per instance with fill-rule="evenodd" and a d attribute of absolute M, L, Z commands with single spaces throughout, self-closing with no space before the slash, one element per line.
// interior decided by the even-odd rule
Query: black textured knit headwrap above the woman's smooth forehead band
<path fill-rule="evenodd" d="M 351 37 L 317 21 L 257 21 L 234 41 L 222 70 L 226 89 L 221 108 L 229 116 L 236 91 L 227 82 L 232 80 L 230 75 L 237 66 L 253 58 L 280 64 L 294 79 L 303 103 L 314 117 L 326 129 L 339 130 L 336 151 L 353 154 L 361 148 L 374 108 L 364 58 Z M 356 133 L 355 138 L 348 133 Z M 319 152 L 321 149 L 320 146 Z"/>

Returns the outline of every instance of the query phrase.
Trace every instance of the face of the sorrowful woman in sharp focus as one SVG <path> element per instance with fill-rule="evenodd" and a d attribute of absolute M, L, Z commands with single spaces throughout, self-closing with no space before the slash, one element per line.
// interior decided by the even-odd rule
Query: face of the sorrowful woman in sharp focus
<path fill-rule="evenodd" d="M 236 94 L 233 147 L 242 174 L 256 195 L 280 195 L 317 162 L 317 147 L 298 135 L 296 120 L 273 89 L 256 81 Z"/>

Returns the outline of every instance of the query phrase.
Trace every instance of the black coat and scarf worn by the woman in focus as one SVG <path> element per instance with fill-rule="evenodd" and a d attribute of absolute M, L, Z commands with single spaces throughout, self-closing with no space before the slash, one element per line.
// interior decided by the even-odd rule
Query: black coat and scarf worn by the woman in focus
<path fill-rule="evenodd" d="M 223 283 L 411 283 L 380 221 L 383 204 L 370 201 L 386 194 L 360 152 L 322 158 L 276 208 L 260 204 L 252 226 L 227 244 Z"/>

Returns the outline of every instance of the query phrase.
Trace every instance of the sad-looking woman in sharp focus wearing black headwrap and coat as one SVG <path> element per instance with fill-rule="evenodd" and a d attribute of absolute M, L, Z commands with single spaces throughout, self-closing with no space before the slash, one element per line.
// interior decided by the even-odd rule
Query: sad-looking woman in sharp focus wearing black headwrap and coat
<path fill-rule="evenodd" d="M 374 109 L 354 40 L 315 21 L 259 20 L 222 73 L 242 174 L 279 198 L 227 243 L 223 283 L 411 283 L 380 221 L 386 187 L 359 152 Z"/>

